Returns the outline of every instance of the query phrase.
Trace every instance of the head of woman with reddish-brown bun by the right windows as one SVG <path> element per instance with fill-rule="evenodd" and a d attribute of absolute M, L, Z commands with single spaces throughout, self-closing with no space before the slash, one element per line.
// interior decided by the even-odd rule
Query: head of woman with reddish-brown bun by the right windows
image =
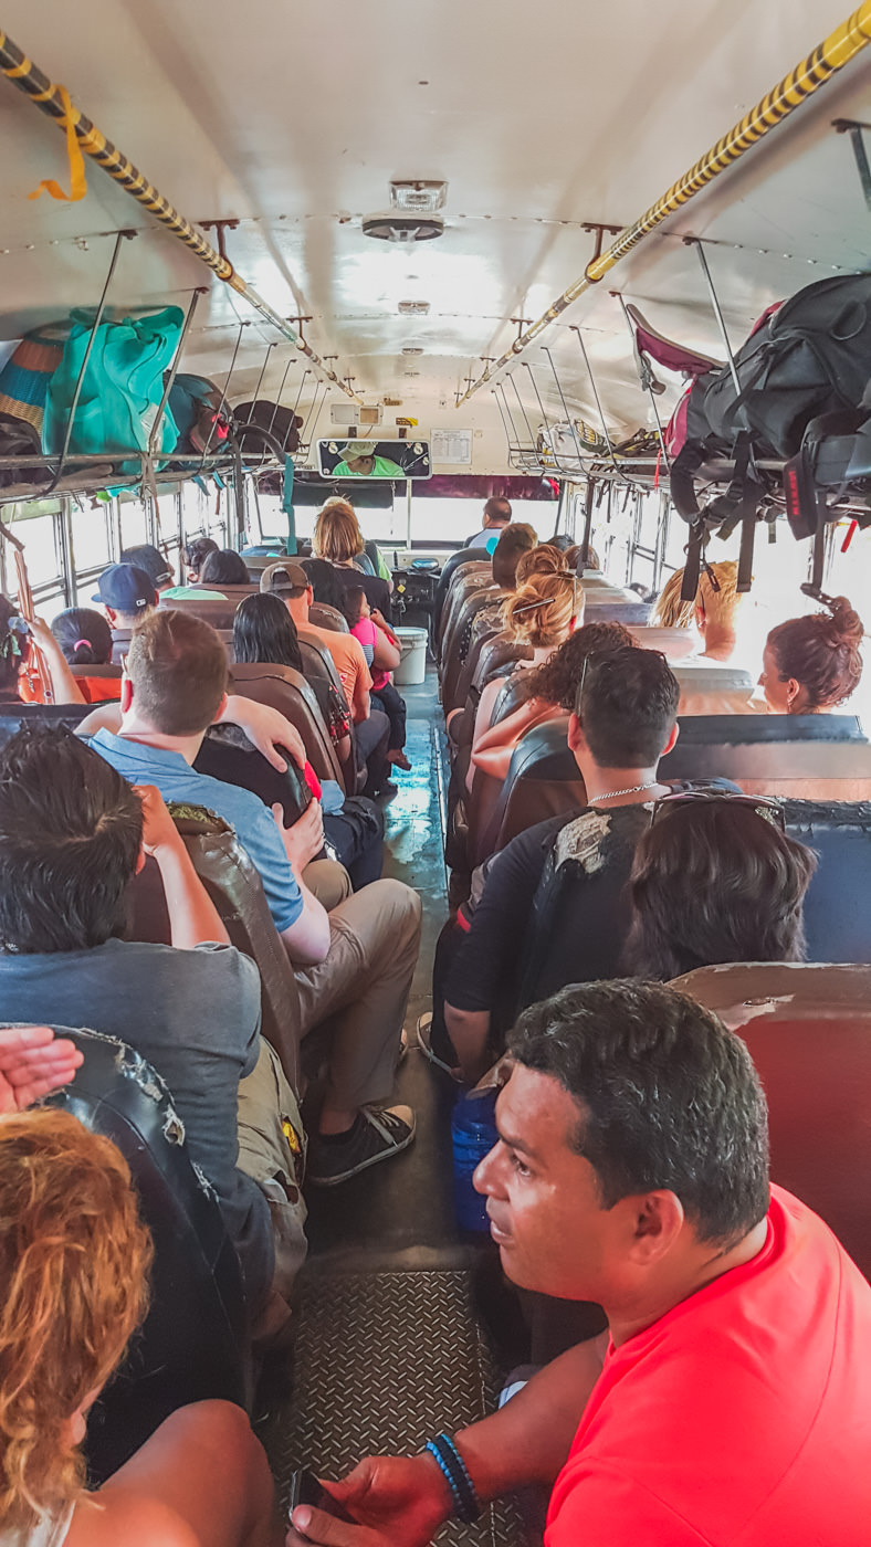
<path fill-rule="evenodd" d="M 845 596 L 820 600 L 825 613 L 791 617 L 766 639 L 760 687 L 775 715 L 828 715 L 862 679 L 859 613 Z"/>

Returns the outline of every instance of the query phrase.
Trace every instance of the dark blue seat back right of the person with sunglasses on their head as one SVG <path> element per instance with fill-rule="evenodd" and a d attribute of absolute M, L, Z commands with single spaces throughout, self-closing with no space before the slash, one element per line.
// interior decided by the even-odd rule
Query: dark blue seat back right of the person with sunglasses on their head
<path fill-rule="evenodd" d="M 871 804 L 784 800 L 783 812 L 820 859 L 804 897 L 808 961 L 871 964 Z"/>

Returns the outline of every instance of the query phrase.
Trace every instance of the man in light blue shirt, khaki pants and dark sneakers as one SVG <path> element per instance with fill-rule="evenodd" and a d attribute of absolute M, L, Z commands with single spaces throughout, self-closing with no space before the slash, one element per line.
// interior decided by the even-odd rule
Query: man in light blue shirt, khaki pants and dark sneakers
<path fill-rule="evenodd" d="M 377 1103 L 393 1091 L 421 902 L 410 886 L 377 880 L 328 913 L 303 879 L 323 845 L 317 803 L 286 829 L 280 806 L 269 812 L 249 791 L 192 769 L 207 727 L 227 715 L 226 684 L 224 647 L 209 623 L 172 610 L 153 613 L 130 645 L 119 732 L 104 722 L 93 746 L 130 783 L 156 784 L 164 800 L 215 811 L 235 828 L 260 873 L 295 968 L 300 1032 L 305 1036 L 326 1019 L 333 1027 L 326 1095 L 308 1156 L 309 1182 L 330 1187 L 398 1154 L 415 1137 L 410 1108 Z M 88 733 L 93 724 L 88 716 L 79 729 Z M 297 760 L 305 763 L 302 744 Z"/>

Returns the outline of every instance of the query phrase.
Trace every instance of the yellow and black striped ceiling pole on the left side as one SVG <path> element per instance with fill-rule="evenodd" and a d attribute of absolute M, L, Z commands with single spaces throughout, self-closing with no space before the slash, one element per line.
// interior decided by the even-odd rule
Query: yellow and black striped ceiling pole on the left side
<path fill-rule="evenodd" d="M 269 305 L 269 302 L 263 300 L 252 285 L 248 285 L 241 275 L 235 272 L 227 258 L 224 258 L 215 251 L 215 248 L 210 246 L 210 243 L 206 241 L 206 237 L 196 231 L 192 221 L 186 220 L 184 215 L 181 215 L 179 210 L 175 209 L 175 206 L 170 204 L 152 183 L 149 183 L 142 172 L 139 172 L 139 169 L 135 167 L 125 155 L 122 155 L 118 145 L 113 145 L 111 141 L 107 139 L 105 135 L 96 127 L 96 124 L 91 124 L 90 118 L 85 118 L 80 108 L 70 101 L 70 94 L 65 87 L 56 85 L 54 80 L 50 80 L 48 76 L 43 74 L 43 71 L 39 70 L 39 67 L 34 65 L 34 62 L 28 59 L 17 43 L 14 43 L 3 31 L 0 31 L 0 74 L 5 74 L 12 85 L 19 88 L 19 91 L 23 91 L 25 96 L 36 104 L 36 107 L 53 118 L 59 128 L 68 131 L 71 125 L 79 149 L 84 150 L 87 156 L 108 172 L 110 178 L 114 178 L 114 181 L 127 193 L 130 193 L 132 198 L 142 204 L 150 215 L 159 220 L 161 224 L 173 237 L 183 241 L 201 263 L 206 263 L 220 280 L 237 291 L 237 294 L 241 295 L 249 306 L 254 306 L 254 309 L 258 311 L 266 322 L 277 328 L 285 339 L 295 343 L 297 350 L 300 350 L 300 353 L 313 362 L 316 370 L 326 381 L 340 387 L 348 398 L 354 399 L 354 402 L 360 401 L 357 394 L 351 391 L 343 381 L 340 381 L 336 371 L 325 365 L 311 345 L 305 339 L 300 339 L 295 330 L 291 328 L 289 322 L 282 317 Z"/>

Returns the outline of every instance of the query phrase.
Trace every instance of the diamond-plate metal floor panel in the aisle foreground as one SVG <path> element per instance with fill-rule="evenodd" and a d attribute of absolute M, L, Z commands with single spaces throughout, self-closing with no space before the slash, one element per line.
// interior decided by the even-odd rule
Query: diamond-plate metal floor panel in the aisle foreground
<path fill-rule="evenodd" d="M 311 1275 L 292 1402 L 260 1428 L 282 1505 L 294 1468 L 340 1477 L 362 1456 L 415 1454 L 439 1429 L 492 1412 L 500 1383 L 466 1272 Z M 473 1527 L 449 1522 L 436 1541 L 521 1547 L 523 1533 L 501 1501 Z"/>

